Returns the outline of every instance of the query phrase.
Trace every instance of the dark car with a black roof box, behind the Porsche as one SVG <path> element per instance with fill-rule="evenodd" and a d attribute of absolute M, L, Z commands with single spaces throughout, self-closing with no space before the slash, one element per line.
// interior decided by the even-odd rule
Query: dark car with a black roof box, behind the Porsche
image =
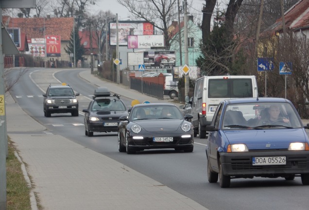
<path fill-rule="evenodd" d="M 88 137 L 92 137 L 93 132 L 117 132 L 120 116 L 129 115 L 120 96 L 112 95 L 105 87 L 95 89 L 93 99 L 83 112 L 85 135 Z"/>

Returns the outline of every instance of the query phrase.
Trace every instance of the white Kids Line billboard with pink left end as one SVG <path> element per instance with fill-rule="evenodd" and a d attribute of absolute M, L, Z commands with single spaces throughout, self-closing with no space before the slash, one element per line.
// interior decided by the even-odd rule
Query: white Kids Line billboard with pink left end
<path fill-rule="evenodd" d="M 128 35 L 128 49 L 164 47 L 164 35 Z"/>

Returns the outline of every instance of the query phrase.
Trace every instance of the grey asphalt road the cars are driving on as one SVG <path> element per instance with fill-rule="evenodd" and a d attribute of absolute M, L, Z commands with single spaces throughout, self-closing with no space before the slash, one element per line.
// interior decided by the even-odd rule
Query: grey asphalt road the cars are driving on
<path fill-rule="evenodd" d="M 80 111 L 88 105 L 95 87 L 78 76 L 79 70 L 53 70 L 54 74 L 47 70 L 35 70 L 30 69 L 22 76 L 11 95 L 31 117 L 47 127 L 47 132 L 64 136 L 115 159 L 124 167 L 128 166 L 167 185 L 209 210 L 308 210 L 309 186 L 303 186 L 300 177 L 293 181 L 284 178 L 232 179 L 228 189 L 221 189 L 219 182 L 208 183 L 206 140 L 195 138 L 193 153 L 146 150 L 127 155 L 118 152 L 116 132 L 94 133 L 94 137 L 86 137 L 81 112 L 79 117 L 71 117 L 70 114 L 44 117 L 42 93 L 50 83 L 66 82 L 80 92 Z M 13 71 L 12 75 L 15 73 Z M 130 99 L 123 99 L 128 105 L 131 104 Z"/>

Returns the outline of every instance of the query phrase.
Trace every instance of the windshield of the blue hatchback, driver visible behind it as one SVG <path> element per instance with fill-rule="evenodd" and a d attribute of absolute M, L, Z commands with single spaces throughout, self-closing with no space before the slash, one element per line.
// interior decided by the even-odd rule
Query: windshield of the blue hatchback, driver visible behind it
<path fill-rule="evenodd" d="M 303 124 L 289 103 L 247 103 L 227 105 L 222 128 L 231 129 L 286 129 Z"/>

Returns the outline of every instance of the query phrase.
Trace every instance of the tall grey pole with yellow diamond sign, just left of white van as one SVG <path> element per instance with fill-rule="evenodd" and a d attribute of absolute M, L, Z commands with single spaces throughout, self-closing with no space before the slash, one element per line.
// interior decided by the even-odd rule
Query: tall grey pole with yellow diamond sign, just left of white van
<path fill-rule="evenodd" d="M 185 47 L 185 64 L 189 66 L 188 55 L 188 14 L 187 14 L 187 0 L 184 0 L 184 47 Z M 185 75 L 185 96 L 189 93 L 189 72 Z"/>

